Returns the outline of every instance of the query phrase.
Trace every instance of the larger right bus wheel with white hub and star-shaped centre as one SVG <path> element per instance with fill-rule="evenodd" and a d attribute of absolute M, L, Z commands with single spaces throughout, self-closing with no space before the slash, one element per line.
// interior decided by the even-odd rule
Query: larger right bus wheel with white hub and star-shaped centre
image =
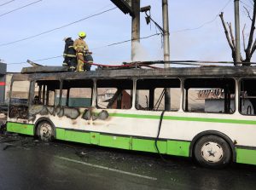
<path fill-rule="evenodd" d="M 195 144 L 194 157 L 202 166 L 223 168 L 230 164 L 230 146 L 223 138 L 217 135 L 203 136 Z"/>

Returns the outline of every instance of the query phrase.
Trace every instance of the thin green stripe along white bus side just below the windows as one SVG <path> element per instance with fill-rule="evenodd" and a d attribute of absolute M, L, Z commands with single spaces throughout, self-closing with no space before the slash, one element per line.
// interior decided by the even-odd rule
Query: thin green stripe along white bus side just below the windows
<path fill-rule="evenodd" d="M 109 113 L 109 116 L 121 117 L 121 118 L 160 119 L 160 116 L 156 116 L 156 115 L 137 115 L 137 114 L 126 114 L 126 113 Z M 190 117 L 164 116 L 163 119 L 177 120 L 177 121 L 225 123 L 225 124 L 256 124 L 255 120 L 241 120 L 241 119 L 229 119 L 229 118 L 190 118 Z"/>

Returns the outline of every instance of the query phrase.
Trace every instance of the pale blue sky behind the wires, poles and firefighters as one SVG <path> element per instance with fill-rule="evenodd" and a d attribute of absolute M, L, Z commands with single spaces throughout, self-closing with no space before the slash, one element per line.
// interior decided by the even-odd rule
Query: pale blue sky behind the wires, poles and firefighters
<path fill-rule="evenodd" d="M 161 2 L 141 0 L 141 7 L 151 5 L 151 16 L 160 26 Z M 223 11 L 224 20 L 235 28 L 233 0 L 169 0 L 168 3 L 171 60 L 232 60 L 218 14 Z M 251 0 L 242 0 L 240 6 L 241 28 L 247 23 L 247 37 L 249 20 L 243 6 L 250 10 Z M 84 31 L 94 62 L 120 65 L 131 61 L 131 42 L 119 43 L 131 39 L 131 16 L 114 7 L 110 0 L 0 0 L 0 59 L 8 64 L 8 72 L 20 72 L 22 67 L 30 66 L 26 60 L 37 60 L 44 66 L 61 66 L 62 57 L 44 59 L 61 56 L 65 45 L 62 39 L 75 39 Z M 11 12 L 14 9 L 17 10 Z M 108 9 L 113 10 L 84 19 Z M 78 22 L 73 23 L 75 21 Z M 41 33 L 44 34 L 38 35 Z M 155 33 L 158 33 L 156 27 L 153 23 L 147 25 L 142 13 L 141 37 Z M 13 43 L 24 38 L 29 39 Z M 108 46 L 113 43 L 119 44 Z M 242 47 L 241 53 L 243 55 Z M 140 60 L 163 60 L 162 37 L 142 39 L 137 54 Z"/>

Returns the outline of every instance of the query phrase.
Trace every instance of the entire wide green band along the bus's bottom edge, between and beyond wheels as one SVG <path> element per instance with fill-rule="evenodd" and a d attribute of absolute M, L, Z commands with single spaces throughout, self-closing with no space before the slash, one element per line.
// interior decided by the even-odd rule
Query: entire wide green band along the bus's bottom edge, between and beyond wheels
<path fill-rule="evenodd" d="M 7 131 L 25 135 L 34 135 L 33 124 L 7 123 Z M 126 150 L 157 153 L 154 139 L 143 139 L 132 136 L 106 135 L 97 132 L 85 132 L 56 128 L 56 139 L 94 144 L 102 147 L 114 147 Z M 157 141 L 160 153 L 189 157 L 189 141 L 160 140 Z M 256 164 L 256 150 L 236 147 L 236 162 Z"/>

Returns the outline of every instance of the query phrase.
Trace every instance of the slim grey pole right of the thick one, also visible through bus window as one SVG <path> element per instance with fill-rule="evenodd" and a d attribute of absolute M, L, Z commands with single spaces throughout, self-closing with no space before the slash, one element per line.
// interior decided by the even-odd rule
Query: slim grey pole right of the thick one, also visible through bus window
<path fill-rule="evenodd" d="M 162 0 L 163 28 L 164 28 L 164 60 L 170 60 L 170 41 L 169 41 L 169 17 L 168 17 L 168 0 Z M 165 68 L 170 67 L 165 63 Z M 171 90 L 165 90 L 165 109 L 171 110 Z"/>

